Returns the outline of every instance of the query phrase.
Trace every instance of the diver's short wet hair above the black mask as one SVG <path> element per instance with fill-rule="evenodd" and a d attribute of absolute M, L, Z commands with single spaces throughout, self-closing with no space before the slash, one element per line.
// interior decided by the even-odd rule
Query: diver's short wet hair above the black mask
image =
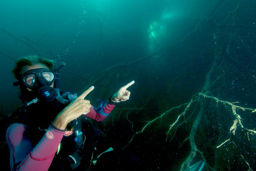
<path fill-rule="evenodd" d="M 16 61 L 16 65 L 13 68 L 12 73 L 14 74 L 14 77 L 17 80 L 20 80 L 20 78 L 21 78 L 20 72 L 24 66 L 32 66 L 32 65 L 35 65 L 38 63 L 46 65 L 50 70 L 52 70 L 53 65 L 54 65 L 53 60 L 46 59 L 42 56 L 38 56 L 38 55 L 24 56 L 24 57 L 19 58 Z"/>

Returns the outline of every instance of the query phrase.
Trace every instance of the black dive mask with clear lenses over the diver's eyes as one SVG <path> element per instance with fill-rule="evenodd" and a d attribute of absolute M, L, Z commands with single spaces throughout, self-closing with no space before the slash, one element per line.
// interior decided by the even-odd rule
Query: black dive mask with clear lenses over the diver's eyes
<path fill-rule="evenodd" d="M 46 68 L 30 69 L 21 76 L 23 85 L 35 91 L 44 86 L 51 86 L 54 80 L 55 74 Z"/>

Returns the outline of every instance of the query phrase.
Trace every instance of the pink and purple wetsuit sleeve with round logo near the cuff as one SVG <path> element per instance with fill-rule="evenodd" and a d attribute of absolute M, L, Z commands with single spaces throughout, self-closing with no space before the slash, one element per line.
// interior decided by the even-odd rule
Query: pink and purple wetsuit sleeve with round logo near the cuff
<path fill-rule="evenodd" d="M 28 127 L 12 124 L 6 132 L 10 149 L 11 170 L 47 171 L 52 163 L 65 130 L 50 125 L 39 143 L 33 147 Z"/>

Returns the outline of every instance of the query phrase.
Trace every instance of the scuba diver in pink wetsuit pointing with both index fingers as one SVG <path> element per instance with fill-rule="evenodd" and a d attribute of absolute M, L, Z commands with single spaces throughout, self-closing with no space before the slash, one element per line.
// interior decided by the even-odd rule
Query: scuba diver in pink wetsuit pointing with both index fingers
<path fill-rule="evenodd" d="M 60 91 L 59 69 L 64 65 L 55 67 L 54 61 L 38 55 L 16 61 L 12 72 L 18 81 L 13 85 L 20 86 L 24 106 L 9 116 L 18 117 L 6 132 L 11 170 L 92 170 L 97 163 L 100 132 L 88 118 L 104 120 L 117 103 L 129 99 L 127 88 L 134 81 L 96 108 L 85 99 L 93 86 L 80 96 Z"/>

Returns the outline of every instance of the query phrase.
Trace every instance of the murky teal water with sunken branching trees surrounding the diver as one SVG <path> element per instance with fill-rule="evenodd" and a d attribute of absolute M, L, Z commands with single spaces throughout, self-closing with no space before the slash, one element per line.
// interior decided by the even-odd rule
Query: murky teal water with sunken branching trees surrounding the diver
<path fill-rule="evenodd" d="M 98 170 L 256 170 L 255 16 L 255 0 L 1 0 L 0 117 L 22 106 L 15 60 L 41 55 L 66 63 L 61 91 L 93 85 L 94 106 L 135 81 L 91 121 L 114 148 Z"/>

